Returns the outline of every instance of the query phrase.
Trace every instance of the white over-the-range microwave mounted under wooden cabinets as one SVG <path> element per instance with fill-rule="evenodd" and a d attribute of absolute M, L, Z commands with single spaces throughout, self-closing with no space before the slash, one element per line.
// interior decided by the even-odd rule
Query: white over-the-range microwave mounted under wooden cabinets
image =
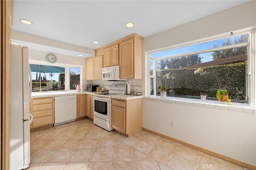
<path fill-rule="evenodd" d="M 102 68 L 102 80 L 127 81 L 127 79 L 120 79 L 120 77 L 119 77 L 119 65 Z"/>

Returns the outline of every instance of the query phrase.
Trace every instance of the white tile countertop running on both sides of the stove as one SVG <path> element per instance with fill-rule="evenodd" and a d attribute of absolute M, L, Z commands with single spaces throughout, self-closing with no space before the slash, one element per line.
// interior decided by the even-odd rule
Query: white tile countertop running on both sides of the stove
<path fill-rule="evenodd" d="M 101 92 L 96 91 L 60 91 L 60 92 L 38 92 L 32 93 L 31 98 L 41 98 L 41 97 L 56 97 L 56 96 L 68 96 L 68 95 L 95 95 Z M 120 100 L 132 100 L 132 99 L 140 99 L 143 96 L 136 96 L 136 95 L 114 95 L 112 99 L 120 99 Z"/>

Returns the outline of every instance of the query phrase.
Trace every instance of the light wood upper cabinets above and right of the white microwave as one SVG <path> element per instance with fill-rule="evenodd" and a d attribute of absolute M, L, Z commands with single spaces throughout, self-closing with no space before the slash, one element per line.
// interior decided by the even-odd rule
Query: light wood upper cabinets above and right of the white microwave
<path fill-rule="evenodd" d="M 95 49 L 95 53 L 103 55 L 103 67 L 120 65 L 120 79 L 142 79 L 142 41 L 143 37 L 134 33 Z"/>

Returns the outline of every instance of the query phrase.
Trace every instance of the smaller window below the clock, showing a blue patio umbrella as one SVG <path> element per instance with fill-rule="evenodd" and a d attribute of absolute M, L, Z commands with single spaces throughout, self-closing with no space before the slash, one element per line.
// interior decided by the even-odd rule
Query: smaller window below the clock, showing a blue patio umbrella
<path fill-rule="evenodd" d="M 32 92 L 72 91 L 82 82 L 82 65 L 47 65 L 30 62 Z"/>

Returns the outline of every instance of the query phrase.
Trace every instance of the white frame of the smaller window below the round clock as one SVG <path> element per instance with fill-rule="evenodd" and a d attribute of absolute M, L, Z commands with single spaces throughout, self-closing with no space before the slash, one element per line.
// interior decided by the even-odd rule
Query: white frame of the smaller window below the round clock
<path fill-rule="evenodd" d="M 58 91 L 44 91 L 40 93 L 48 93 L 48 92 L 60 92 L 60 91 L 76 91 L 75 89 L 70 90 L 70 68 L 80 68 L 80 83 L 83 82 L 83 66 L 82 65 L 74 65 L 74 64 L 66 64 L 66 63 L 46 63 L 45 61 L 40 60 L 33 60 L 29 59 L 29 64 L 40 64 L 40 65 L 52 65 L 52 66 L 58 66 L 58 67 L 64 67 L 65 68 L 65 90 L 58 90 Z M 32 93 L 38 93 L 38 91 L 32 92 Z"/>

